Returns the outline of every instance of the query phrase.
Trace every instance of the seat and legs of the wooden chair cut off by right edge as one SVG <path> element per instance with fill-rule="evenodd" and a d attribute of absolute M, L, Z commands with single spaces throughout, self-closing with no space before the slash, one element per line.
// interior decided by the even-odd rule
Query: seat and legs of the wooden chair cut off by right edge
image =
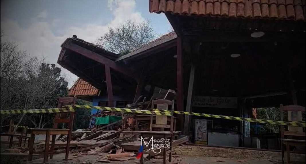
<path fill-rule="evenodd" d="M 305 146 L 305 140 L 292 140 L 292 139 L 285 139 L 282 138 L 282 163 L 285 164 L 285 149 L 283 145 L 286 145 L 286 151 L 287 151 L 287 164 L 290 164 L 290 148 L 289 146 Z"/>

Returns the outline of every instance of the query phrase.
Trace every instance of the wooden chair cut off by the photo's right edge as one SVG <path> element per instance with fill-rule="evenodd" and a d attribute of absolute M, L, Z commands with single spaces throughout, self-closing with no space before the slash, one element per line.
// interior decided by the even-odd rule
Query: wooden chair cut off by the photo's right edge
<path fill-rule="evenodd" d="M 304 111 L 305 107 L 299 106 L 299 105 L 286 105 L 283 106 L 281 104 L 280 106 L 280 112 L 281 112 L 281 120 L 284 121 L 284 111 Z M 289 119 L 289 118 L 288 118 Z M 293 121 L 293 120 L 289 120 Z M 302 132 L 302 127 L 298 128 L 289 128 L 289 126 L 281 126 L 281 147 L 282 147 L 282 163 L 285 163 L 284 157 L 285 157 L 285 149 L 283 145 L 286 145 L 286 152 L 287 152 L 287 163 L 290 163 L 290 145 L 291 146 L 305 146 L 305 139 L 304 140 L 296 140 L 293 139 L 293 136 L 295 137 L 305 137 L 305 132 Z"/>

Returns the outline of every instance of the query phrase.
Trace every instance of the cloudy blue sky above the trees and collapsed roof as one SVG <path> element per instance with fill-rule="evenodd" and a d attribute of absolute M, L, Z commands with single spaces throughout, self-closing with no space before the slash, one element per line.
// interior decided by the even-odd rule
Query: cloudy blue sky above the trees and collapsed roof
<path fill-rule="evenodd" d="M 30 55 L 56 63 L 60 45 L 77 35 L 95 42 L 108 27 L 126 20 L 149 20 L 156 35 L 166 34 L 164 14 L 149 12 L 149 0 L 1 0 L 1 29 Z M 69 86 L 77 79 L 62 68 Z"/>

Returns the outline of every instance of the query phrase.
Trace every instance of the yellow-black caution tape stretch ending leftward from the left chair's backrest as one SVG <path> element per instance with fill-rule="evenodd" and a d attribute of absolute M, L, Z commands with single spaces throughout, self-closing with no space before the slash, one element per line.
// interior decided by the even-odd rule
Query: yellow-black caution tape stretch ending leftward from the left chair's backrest
<path fill-rule="evenodd" d="M 61 113 L 61 112 L 74 112 L 74 109 L 73 107 L 69 107 L 69 108 L 49 108 L 49 109 L 1 110 L 1 114 Z"/>

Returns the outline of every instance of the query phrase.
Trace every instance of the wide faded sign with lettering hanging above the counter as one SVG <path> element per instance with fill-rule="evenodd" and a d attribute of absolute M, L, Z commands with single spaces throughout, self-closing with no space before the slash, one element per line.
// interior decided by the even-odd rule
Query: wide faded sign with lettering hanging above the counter
<path fill-rule="evenodd" d="M 193 96 L 192 106 L 208 108 L 237 108 L 237 97 Z"/>

